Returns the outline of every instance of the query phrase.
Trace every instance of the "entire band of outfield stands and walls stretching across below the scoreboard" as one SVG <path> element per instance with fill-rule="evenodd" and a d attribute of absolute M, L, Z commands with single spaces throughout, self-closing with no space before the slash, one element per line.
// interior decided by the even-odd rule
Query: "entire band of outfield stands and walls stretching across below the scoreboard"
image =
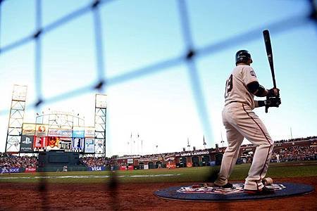
<path fill-rule="evenodd" d="M 252 162 L 255 149 L 252 144 L 242 145 L 237 164 Z M 8 165 L 11 173 L 56 172 L 65 165 L 70 172 L 173 169 L 220 165 L 224 152 L 225 147 L 220 147 L 152 155 L 113 155 L 111 158 L 80 156 L 79 152 L 64 151 L 39 151 L 33 157 L 0 153 L 0 166 Z M 271 162 L 308 160 L 317 160 L 317 136 L 275 141 Z"/>

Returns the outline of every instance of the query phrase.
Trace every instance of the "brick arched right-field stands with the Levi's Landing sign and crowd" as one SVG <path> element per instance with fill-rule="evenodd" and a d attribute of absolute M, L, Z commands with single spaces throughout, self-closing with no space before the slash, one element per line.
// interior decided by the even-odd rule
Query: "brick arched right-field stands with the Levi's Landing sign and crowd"
<path fill-rule="evenodd" d="M 256 146 L 253 144 L 242 145 L 237 164 L 251 162 L 255 151 Z M 225 147 L 216 147 L 154 155 L 124 155 L 113 159 L 116 160 L 120 170 L 200 167 L 220 165 L 224 152 Z M 273 154 L 271 162 L 276 162 L 277 154 L 281 155 L 282 162 L 317 160 L 317 137 L 275 141 Z"/>

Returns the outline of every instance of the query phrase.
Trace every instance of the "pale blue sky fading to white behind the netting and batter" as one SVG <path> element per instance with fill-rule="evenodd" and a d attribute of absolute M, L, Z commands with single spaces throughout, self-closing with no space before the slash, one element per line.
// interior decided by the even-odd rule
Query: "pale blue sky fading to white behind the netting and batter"
<path fill-rule="evenodd" d="M 42 1 L 42 25 L 49 25 L 90 2 Z M 143 154 L 181 151 L 187 146 L 187 138 L 191 146 L 203 148 L 204 135 L 208 137 L 207 147 L 220 144 L 221 134 L 225 140 L 220 114 L 225 80 L 234 68 L 235 52 L 249 50 L 259 82 L 266 88 L 273 87 L 262 38 L 264 29 L 271 32 L 282 105 L 269 113 L 263 108 L 255 111 L 274 140 L 289 139 L 290 127 L 293 137 L 316 135 L 316 22 L 300 22 L 300 17 L 309 15 L 308 1 L 185 3 L 194 49 L 207 52 L 194 58 L 207 116 L 197 107 L 197 92 L 193 91 L 185 62 L 111 84 L 104 90 L 108 95 L 107 155 L 141 153 L 141 140 Z M 178 1 L 109 1 L 101 5 L 107 79 L 185 55 L 187 45 L 178 6 Z M 279 22 L 278 27 L 273 25 Z M 4 1 L 0 47 L 34 33 L 35 25 L 35 1 Z M 44 99 L 97 83 L 94 36 L 92 12 L 43 35 Z M 217 48 L 219 43 L 225 44 Z M 206 46 L 211 49 L 203 51 Z M 35 41 L 0 54 L 0 78 L 0 151 L 4 151 L 13 84 L 28 86 L 25 122 L 35 121 L 37 111 L 31 106 L 37 99 Z M 41 110 L 75 110 L 85 116 L 87 126 L 92 126 L 95 93 L 91 90 L 45 103 Z M 131 132 L 132 143 L 135 141 L 132 149 L 128 145 Z"/>

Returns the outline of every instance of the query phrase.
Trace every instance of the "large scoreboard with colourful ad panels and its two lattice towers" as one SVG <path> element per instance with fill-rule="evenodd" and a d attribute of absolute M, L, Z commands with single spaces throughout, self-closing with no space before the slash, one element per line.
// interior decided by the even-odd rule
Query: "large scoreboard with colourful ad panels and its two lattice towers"
<path fill-rule="evenodd" d="M 94 126 L 79 114 L 50 110 L 24 122 L 27 87 L 14 85 L 6 153 L 63 151 L 106 156 L 106 95 L 96 94 Z"/>

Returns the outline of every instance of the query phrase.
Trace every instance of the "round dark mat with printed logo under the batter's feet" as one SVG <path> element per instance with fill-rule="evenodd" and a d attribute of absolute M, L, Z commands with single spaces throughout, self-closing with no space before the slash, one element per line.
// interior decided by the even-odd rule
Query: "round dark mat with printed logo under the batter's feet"
<path fill-rule="evenodd" d="M 295 196 L 314 191 L 313 186 L 307 184 L 280 183 L 272 184 L 268 188 L 275 190 L 267 195 L 249 195 L 243 193 L 243 184 L 233 184 L 234 188 L 214 188 L 204 184 L 189 186 L 174 186 L 155 191 L 160 198 L 173 200 L 201 200 L 201 201 L 226 201 L 226 200 L 259 200 L 268 198 L 281 198 Z"/>

